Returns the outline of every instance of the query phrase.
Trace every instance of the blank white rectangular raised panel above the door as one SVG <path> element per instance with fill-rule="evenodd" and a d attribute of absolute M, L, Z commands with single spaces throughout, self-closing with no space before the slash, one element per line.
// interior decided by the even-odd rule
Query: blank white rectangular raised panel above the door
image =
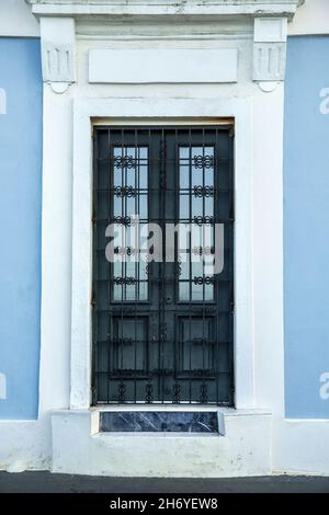
<path fill-rule="evenodd" d="M 237 82 L 238 53 L 222 49 L 95 49 L 89 52 L 91 83 Z"/>

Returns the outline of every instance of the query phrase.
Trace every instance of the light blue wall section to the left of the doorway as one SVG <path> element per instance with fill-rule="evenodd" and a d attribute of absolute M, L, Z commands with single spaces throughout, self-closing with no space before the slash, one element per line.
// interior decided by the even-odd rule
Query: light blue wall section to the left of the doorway
<path fill-rule="evenodd" d="M 39 41 L 0 38 L 0 419 L 37 416 L 41 191 Z"/>

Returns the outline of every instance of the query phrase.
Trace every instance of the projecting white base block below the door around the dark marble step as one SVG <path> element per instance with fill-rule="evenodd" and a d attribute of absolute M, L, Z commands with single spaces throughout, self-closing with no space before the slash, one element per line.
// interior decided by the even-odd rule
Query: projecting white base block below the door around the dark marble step
<path fill-rule="evenodd" d="M 218 478 L 271 472 L 271 415 L 224 414 L 226 435 L 94 433 L 97 412 L 55 412 L 54 472 Z M 81 451 L 83 449 L 83 451 Z"/>

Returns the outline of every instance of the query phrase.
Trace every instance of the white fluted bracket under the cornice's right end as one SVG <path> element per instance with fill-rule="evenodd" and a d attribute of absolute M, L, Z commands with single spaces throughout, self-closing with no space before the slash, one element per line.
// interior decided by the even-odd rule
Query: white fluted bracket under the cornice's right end
<path fill-rule="evenodd" d="M 286 35 L 286 18 L 254 20 L 252 75 L 254 81 L 284 80 Z"/>

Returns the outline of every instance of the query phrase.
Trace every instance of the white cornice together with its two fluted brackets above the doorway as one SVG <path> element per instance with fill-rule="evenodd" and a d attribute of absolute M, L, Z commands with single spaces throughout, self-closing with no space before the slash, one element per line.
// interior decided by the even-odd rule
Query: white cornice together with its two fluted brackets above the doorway
<path fill-rule="evenodd" d="M 66 91 L 76 81 L 77 36 L 102 36 L 104 26 L 111 23 L 121 27 L 128 23 L 132 30 L 158 25 L 156 36 L 163 35 L 163 26 L 180 24 L 185 28 L 182 35 L 190 37 L 197 35 L 200 23 L 208 24 L 209 33 L 216 37 L 239 36 L 253 27 L 252 80 L 265 83 L 264 91 L 271 91 L 284 80 L 287 21 L 299 4 L 299 0 L 26 1 L 41 21 L 44 81 L 56 92 Z M 141 35 L 147 37 L 148 33 Z"/>

